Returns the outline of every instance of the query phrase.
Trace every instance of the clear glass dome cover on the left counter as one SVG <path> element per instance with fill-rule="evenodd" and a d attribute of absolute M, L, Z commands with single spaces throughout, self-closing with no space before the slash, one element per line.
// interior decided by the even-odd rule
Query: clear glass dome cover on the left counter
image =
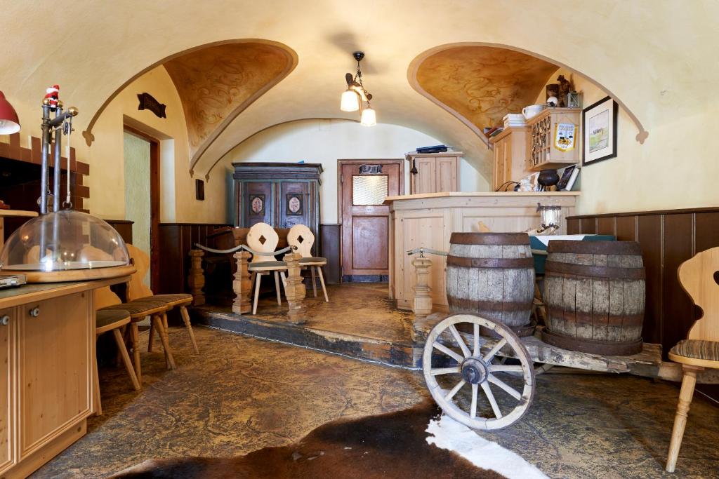
<path fill-rule="evenodd" d="M 0 262 L 2 270 L 52 272 L 127 266 L 130 260 L 122 236 L 111 225 L 87 213 L 60 210 L 14 231 Z"/>

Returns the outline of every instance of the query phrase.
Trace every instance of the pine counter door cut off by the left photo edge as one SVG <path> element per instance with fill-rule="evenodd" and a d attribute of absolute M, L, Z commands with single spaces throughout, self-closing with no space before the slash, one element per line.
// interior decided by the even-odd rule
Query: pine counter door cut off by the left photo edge
<path fill-rule="evenodd" d="M 14 385 L 14 332 L 17 325 L 15 310 L 0 310 L 1 318 L 7 317 L 7 324 L 0 324 L 0 473 L 12 466 L 14 461 L 14 414 L 12 394 Z"/>

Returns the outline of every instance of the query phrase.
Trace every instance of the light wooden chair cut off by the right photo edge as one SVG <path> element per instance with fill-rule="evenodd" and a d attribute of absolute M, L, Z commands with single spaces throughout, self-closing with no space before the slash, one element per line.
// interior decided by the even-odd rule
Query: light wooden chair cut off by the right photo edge
<path fill-rule="evenodd" d="M 719 247 L 707 249 L 684 261 L 679 265 L 678 274 L 684 291 L 704 314 L 694 323 L 687 339 L 679 341 L 669 351 L 669 359 L 681 363 L 684 371 L 667 457 L 669 473 L 673 473 L 677 465 L 697 372 L 704 368 L 719 369 Z"/>

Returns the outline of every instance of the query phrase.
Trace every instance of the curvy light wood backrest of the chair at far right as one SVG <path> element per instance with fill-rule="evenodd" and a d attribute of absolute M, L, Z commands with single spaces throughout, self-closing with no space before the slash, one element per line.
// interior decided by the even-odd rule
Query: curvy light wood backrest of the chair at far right
<path fill-rule="evenodd" d="M 704 313 L 689 339 L 719 341 L 719 247 L 695 254 L 679 265 L 679 282 Z"/>

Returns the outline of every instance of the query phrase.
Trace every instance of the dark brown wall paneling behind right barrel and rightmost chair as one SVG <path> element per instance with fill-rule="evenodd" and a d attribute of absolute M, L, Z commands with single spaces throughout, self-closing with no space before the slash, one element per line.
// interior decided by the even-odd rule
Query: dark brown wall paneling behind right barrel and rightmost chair
<path fill-rule="evenodd" d="M 569 234 L 607 234 L 638 241 L 646 268 L 644 341 L 667 351 L 687 337 L 696 319 L 677 268 L 700 251 L 719 246 L 719 208 L 570 216 Z"/>

